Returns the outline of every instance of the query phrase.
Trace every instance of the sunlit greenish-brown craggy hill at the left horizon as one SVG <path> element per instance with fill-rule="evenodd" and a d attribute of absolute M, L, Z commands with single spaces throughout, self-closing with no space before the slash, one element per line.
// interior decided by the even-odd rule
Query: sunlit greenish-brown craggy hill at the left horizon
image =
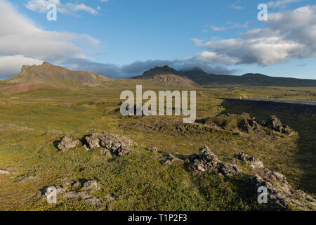
<path fill-rule="evenodd" d="M 6 79 L 2 90 L 9 93 L 48 87 L 51 89 L 80 89 L 103 86 L 110 79 L 93 72 L 73 71 L 50 63 L 23 65 L 19 75 Z M 1 87 L 0 86 L 0 87 Z"/>

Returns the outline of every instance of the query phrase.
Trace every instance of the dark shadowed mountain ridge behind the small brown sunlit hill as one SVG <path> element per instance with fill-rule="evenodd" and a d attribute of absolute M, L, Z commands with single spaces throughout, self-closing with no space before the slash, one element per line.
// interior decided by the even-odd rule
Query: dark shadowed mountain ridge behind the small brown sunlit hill
<path fill-rule="evenodd" d="M 183 77 L 187 82 L 202 86 L 244 85 L 244 86 L 316 86 L 316 79 L 297 79 L 288 77 L 269 77 L 259 73 L 247 73 L 242 76 L 208 74 L 200 68 L 178 71 L 169 66 L 155 67 L 134 79 L 157 79 L 158 75 Z M 178 78 L 179 79 L 179 78 Z"/>

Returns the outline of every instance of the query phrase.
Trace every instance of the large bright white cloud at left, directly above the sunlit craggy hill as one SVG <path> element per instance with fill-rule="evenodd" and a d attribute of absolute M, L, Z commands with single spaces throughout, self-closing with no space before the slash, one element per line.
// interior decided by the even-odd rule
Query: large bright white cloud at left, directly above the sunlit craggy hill
<path fill-rule="evenodd" d="M 41 61 L 62 62 L 67 58 L 85 58 L 81 47 L 98 45 L 99 41 L 88 34 L 51 32 L 41 30 L 32 20 L 18 13 L 6 0 L 0 1 L 0 77 L 13 75 L 20 70 L 21 63 Z M 16 61 L 20 63 L 15 63 Z M 19 65 L 13 70 L 13 65 Z"/>

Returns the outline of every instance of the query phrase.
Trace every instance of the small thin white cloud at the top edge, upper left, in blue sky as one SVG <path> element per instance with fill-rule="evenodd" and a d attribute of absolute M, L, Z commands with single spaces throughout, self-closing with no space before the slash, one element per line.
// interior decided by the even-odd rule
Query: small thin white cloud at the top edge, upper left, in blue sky
<path fill-rule="evenodd" d="M 91 13 L 92 15 L 98 14 L 98 10 L 100 7 L 94 9 L 90 6 L 86 6 L 85 4 L 62 4 L 60 0 L 29 0 L 25 5 L 31 11 L 36 11 L 38 13 L 46 13 L 48 12 L 47 6 L 48 4 L 55 4 L 57 6 L 57 11 L 65 14 L 73 14 L 78 11 L 86 11 L 87 13 Z"/>

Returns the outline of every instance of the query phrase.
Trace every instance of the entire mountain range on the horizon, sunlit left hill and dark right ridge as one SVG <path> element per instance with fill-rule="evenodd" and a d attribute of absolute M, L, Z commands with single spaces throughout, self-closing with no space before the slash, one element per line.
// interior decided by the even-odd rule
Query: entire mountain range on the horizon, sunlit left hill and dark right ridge
<path fill-rule="evenodd" d="M 143 75 L 130 79 L 143 79 L 152 83 L 171 86 L 195 87 L 218 85 L 241 86 L 316 86 L 316 79 L 297 79 L 269 77 L 262 74 L 213 75 L 200 68 L 179 71 L 165 65 L 143 72 Z M 20 74 L 0 81 L 0 91 L 15 93 L 39 88 L 74 90 L 84 87 L 103 87 L 113 79 L 94 72 L 74 71 L 43 63 L 42 65 L 23 65 Z M 126 79 L 128 81 L 128 79 Z"/>

